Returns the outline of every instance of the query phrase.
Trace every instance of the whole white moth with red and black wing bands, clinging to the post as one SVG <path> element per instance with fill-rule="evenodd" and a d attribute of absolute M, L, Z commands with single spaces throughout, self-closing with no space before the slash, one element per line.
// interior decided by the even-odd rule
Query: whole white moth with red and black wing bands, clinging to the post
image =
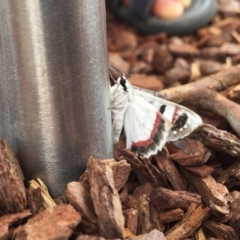
<path fill-rule="evenodd" d="M 202 124 L 190 109 L 134 87 L 124 74 L 110 93 L 114 143 L 124 128 L 126 147 L 146 158 L 161 151 L 167 141 L 183 138 Z"/>

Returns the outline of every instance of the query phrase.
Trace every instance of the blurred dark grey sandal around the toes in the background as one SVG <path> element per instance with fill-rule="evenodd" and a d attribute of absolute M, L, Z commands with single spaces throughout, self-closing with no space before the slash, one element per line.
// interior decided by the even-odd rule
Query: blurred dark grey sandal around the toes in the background
<path fill-rule="evenodd" d="M 121 20 L 144 34 L 190 33 L 210 22 L 217 12 L 216 0 L 193 0 L 181 17 L 163 20 L 150 14 L 154 0 L 131 0 L 128 7 L 123 6 L 119 0 L 106 0 L 106 2 Z"/>

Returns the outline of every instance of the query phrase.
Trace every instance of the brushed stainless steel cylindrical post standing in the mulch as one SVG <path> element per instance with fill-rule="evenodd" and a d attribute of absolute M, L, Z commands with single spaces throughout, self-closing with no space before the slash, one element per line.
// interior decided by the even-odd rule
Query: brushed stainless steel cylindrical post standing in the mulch
<path fill-rule="evenodd" d="M 112 157 L 105 2 L 0 4 L 0 135 L 53 196 Z"/>

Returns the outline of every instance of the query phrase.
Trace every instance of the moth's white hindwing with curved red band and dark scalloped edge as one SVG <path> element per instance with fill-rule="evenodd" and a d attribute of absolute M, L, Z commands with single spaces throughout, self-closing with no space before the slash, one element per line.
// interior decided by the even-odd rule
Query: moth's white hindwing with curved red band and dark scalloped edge
<path fill-rule="evenodd" d="M 149 157 L 162 150 L 168 128 L 162 114 L 141 96 L 131 99 L 124 116 L 127 148 Z"/>

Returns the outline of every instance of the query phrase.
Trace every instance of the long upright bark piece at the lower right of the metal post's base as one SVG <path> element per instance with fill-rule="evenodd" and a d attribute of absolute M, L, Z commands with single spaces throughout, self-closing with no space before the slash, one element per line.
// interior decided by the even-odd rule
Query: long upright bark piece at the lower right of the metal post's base
<path fill-rule="evenodd" d="M 119 195 L 114 186 L 112 168 L 106 162 L 90 157 L 87 171 L 101 235 L 106 238 L 123 238 L 124 217 Z"/>

